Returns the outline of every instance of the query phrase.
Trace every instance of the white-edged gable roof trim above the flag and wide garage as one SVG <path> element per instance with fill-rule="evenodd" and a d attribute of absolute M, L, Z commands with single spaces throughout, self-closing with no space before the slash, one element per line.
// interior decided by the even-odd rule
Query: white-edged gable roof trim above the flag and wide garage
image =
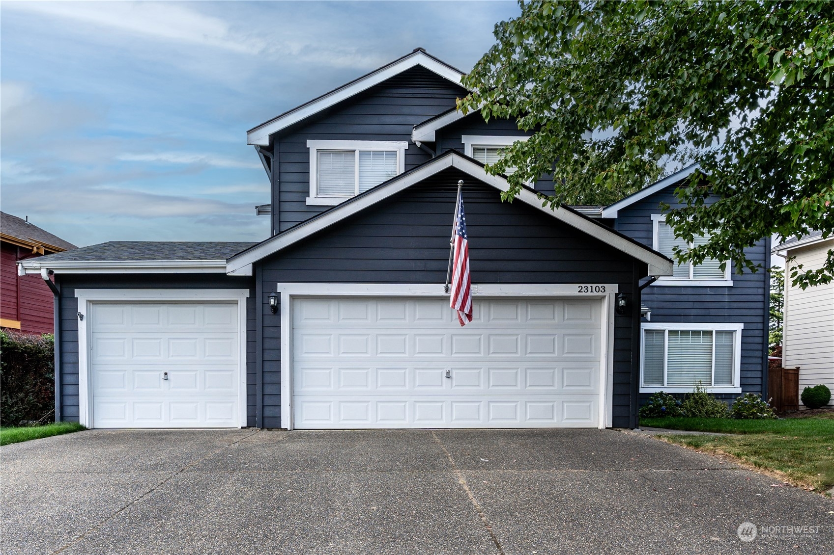
<path fill-rule="evenodd" d="M 349 218 L 365 208 L 370 208 L 374 204 L 404 191 L 446 168 L 457 168 L 461 172 L 467 173 L 478 181 L 491 185 L 500 191 L 506 191 L 509 188 L 506 178 L 500 175 L 495 176 L 486 173 L 484 164 L 452 150 L 438 158 L 432 158 L 428 162 L 410 169 L 408 172 L 401 173 L 399 176 L 389 179 L 387 182 L 381 183 L 334 208 L 319 213 L 314 218 L 299 223 L 293 228 L 289 228 L 262 243 L 258 243 L 242 253 L 234 255 L 234 257 L 229 258 L 227 261 L 227 272 L 230 274 L 248 272 L 252 263 L 256 263 L 271 254 L 278 253 L 280 250 L 288 248 L 294 243 L 298 243 L 302 239 L 308 238 L 324 228 L 339 223 L 344 218 Z M 565 205 L 555 210 L 543 207 L 539 194 L 532 188 L 522 188 L 516 199 L 648 264 L 649 273 L 652 276 L 671 276 L 671 259 L 666 258 L 661 253 L 657 253 L 641 243 L 637 243 L 634 239 L 628 238 L 622 233 L 618 233 L 591 218 L 587 218 Z"/>

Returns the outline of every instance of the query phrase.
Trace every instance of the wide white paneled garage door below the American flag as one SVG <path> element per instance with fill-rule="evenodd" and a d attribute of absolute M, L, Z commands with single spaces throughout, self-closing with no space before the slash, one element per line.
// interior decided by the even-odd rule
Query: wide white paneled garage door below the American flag
<path fill-rule="evenodd" d="M 296 298 L 295 428 L 597 427 L 600 299 Z"/>

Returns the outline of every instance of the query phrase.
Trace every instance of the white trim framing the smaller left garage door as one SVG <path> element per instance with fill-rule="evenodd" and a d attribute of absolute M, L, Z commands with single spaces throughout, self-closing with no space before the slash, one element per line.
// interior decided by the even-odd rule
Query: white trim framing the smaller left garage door
<path fill-rule="evenodd" d="M 230 302 L 238 303 L 239 338 L 239 415 L 238 425 L 246 427 L 246 299 L 249 289 L 76 289 L 78 298 L 78 422 L 88 428 L 94 427 L 93 403 L 90 403 L 90 361 L 88 359 L 90 318 L 92 303 L 101 302 Z"/>

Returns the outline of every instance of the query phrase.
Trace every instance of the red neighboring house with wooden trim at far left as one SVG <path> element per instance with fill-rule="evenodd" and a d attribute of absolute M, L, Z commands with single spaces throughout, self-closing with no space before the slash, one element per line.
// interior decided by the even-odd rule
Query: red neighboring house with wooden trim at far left
<path fill-rule="evenodd" d="M 77 248 L 26 220 L 0 212 L 0 328 L 53 333 L 53 293 L 40 276 L 18 276 L 18 260 Z"/>

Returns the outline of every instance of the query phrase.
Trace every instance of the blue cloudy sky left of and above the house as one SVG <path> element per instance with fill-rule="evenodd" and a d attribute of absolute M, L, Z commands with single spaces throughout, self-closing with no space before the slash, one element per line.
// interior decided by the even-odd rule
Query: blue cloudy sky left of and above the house
<path fill-rule="evenodd" d="M 0 205 L 86 246 L 259 241 L 246 130 L 425 47 L 463 71 L 515 2 L 2 2 Z"/>

